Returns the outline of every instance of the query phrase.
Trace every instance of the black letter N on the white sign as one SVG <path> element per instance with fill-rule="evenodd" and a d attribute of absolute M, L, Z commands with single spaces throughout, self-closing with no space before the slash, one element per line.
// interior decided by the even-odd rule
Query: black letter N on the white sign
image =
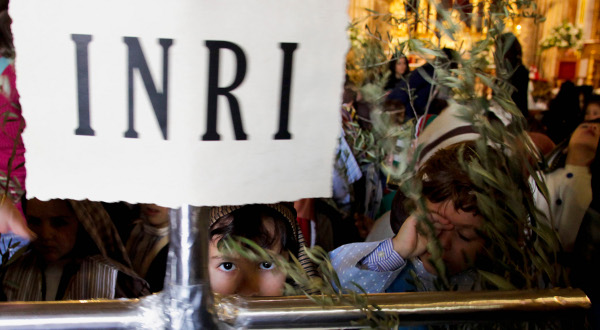
<path fill-rule="evenodd" d="M 137 138 L 138 133 L 133 127 L 134 116 L 133 116 L 133 69 L 138 69 L 144 82 L 144 87 L 148 92 L 150 103 L 152 103 L 152 109 L 154 109 L 154 115 L 160 126 L 163 138 L 167 139 L 167 100 L 169 92 L 169 47 L 173 44 L 173 39 L 159 39 L 159 43 L 163 48 L 163 91 L 162 93 L 156 90 L 152 75 L 148 69 L 148 63 L 142 52 L 140 42 L 136 37 L 123 37 L 123 41 L 127 44 L 129 51 L 128 57 L 128 89 L 129 89 L 129 102 L 128 102 L 128 114 L 129 114 L 129 128 L 125 132 L 125 137 Z"/>

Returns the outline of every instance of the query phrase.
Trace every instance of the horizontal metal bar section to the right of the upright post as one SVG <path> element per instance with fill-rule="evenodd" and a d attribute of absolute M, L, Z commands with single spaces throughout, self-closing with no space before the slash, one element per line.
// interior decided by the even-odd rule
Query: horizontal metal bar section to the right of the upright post
<path fill-rule="evenodd" d="M 583 320 L 591 306 L 579 289 L 385 293 L 369 295 L 368 301 L 398 315 L 401 326 Z M 222 297 L 216 306 L 223 322 L 244 329 L 357 327 L 366 315 L 355 306 L 319 306 L 307 297 Z"/>

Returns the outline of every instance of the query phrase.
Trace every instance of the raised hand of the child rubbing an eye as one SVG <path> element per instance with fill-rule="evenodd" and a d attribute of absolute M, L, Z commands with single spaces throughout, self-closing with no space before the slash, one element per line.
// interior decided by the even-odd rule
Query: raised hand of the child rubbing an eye
<path fill-rule="evenodd" d="M 392 239 L 394 250 L 403 258 L 410 259 L 418 257 L 427 252 L 427 242 L 429 237 L 437 236 L 443 230 L 452 230 L 454 225 L 442 217 L 430 217 L 433 222 L 435 233 L 430 233 L 430 229 L 425 224 L 419 223 L 417 216 L 411 214 L 398 234 Z"/>

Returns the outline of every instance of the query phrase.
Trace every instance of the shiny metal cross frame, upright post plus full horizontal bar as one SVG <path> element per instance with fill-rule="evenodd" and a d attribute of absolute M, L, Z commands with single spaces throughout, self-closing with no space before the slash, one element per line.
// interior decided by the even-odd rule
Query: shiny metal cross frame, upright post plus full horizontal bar
<path fill-rule="evenodd" d="M 165 289 L 141 299 L 0 304 L 0 329 L 215 329 L 218 327 L 357 327 L 364 311 L 350 305 L 322 307 L 307 297 L 242 298 L 213 295 L 205 265 L 208 209 L 171 211 Z M 573 319 L 590 308 L 578 289 L 494 292 L 427 292 L 369 295 L 369 302 L 397 314 L 400 325 Z M 360 325 L 360 323 L 359 323 Z"/>

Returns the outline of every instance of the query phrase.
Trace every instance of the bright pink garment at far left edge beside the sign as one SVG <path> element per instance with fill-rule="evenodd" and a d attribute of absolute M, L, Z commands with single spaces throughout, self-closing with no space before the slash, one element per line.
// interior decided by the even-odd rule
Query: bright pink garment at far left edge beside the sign
<path fill-rule="evenodd" d="M 7 116 L 13 113 L 16 116 Z M 13 146 L 16 143 L 14 159 L 11 164 L 10 176 L 18 181 L 20 190 L 25 190 L 25 166 L 17 168 L 25 163 L 25 145 L 21 138 L 21 132 L 25 128 L 25 119 L 21 115 L 21 105 L 19 104 L 19 92 L 16 87 L 16 74 L 14 65 L 10 64 L 4 69 L 0 76 L 0 171 L 6 175 L 9 160 L 13 153 Z M 0 182 L 2 189 L 6 186 L 6 181 Z M 15 189 L 11 189 L 15 193 Z M 17 204 L 21 213 L 21 203 Z"/>

